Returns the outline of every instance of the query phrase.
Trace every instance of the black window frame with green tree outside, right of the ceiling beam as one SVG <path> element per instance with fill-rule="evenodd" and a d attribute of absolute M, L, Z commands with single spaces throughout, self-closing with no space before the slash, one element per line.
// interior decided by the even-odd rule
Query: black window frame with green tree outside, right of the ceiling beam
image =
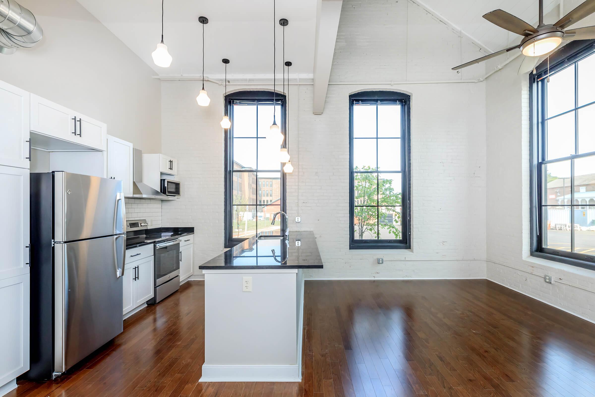
<path fill-rule="evenodd" d="M 400 239 L 355 239 L 355 171 L 353 170 L 353 104 L 362 102 L 393 102 L 401 111 L 401 237 Z M 377 138 L 378 139 L 378 138 Z M 349 249 L 411 249 L 411 95 L 398 91 L 367 90 L 349 95 Z M 358 171 L 358 173 L 361 171 Z M 371 171 L 387 173 L 387 171 Z M 377 220 L 378 222 L 380 220 Z"/>

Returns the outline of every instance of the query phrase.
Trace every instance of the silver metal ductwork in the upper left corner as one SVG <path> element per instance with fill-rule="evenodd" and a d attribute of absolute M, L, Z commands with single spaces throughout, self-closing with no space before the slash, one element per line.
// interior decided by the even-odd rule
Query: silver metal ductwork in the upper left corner
<path fill-rule="evenodd" d="M 43 37 L 35 15 L 14 0 L 0 1 L 0 54 L 30 48 Z"/>

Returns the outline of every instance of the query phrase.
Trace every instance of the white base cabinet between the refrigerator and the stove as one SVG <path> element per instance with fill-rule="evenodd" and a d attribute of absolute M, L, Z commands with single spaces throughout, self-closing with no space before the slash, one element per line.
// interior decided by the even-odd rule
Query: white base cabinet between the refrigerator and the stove
<path fill-rule="evenodd" d="M 152 245 L 126 250 L 126 260 L 123 278 L 123 314 L 130 312 L 144 304 L 154 296 L 154 261 L 153 256 L 146 257 Z M 137 255 L 137 256 L 136 256 Z M 141 259 L 130 261 L 130 258 Z"/>

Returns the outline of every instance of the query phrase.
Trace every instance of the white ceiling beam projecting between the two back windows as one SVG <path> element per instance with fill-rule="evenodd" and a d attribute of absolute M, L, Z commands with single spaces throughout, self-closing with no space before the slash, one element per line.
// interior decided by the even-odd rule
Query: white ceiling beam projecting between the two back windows
<path fill-rule="evenodd" d="M 314 44 L 314 114 L 322 114 L 343 0 L 318 0 Z"/>

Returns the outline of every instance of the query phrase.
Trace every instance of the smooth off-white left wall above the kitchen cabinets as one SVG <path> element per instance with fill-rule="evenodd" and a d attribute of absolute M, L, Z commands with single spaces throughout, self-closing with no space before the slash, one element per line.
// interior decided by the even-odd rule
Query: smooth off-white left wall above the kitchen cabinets
<path fill-rule="evenodd" d="M 76 0 L 18 0 L 43 40 L 0 55 L 0 79 L 108 124 L 109 135 L 145 153 L 161 148 L 161 85 L 141 61 Z"/>

